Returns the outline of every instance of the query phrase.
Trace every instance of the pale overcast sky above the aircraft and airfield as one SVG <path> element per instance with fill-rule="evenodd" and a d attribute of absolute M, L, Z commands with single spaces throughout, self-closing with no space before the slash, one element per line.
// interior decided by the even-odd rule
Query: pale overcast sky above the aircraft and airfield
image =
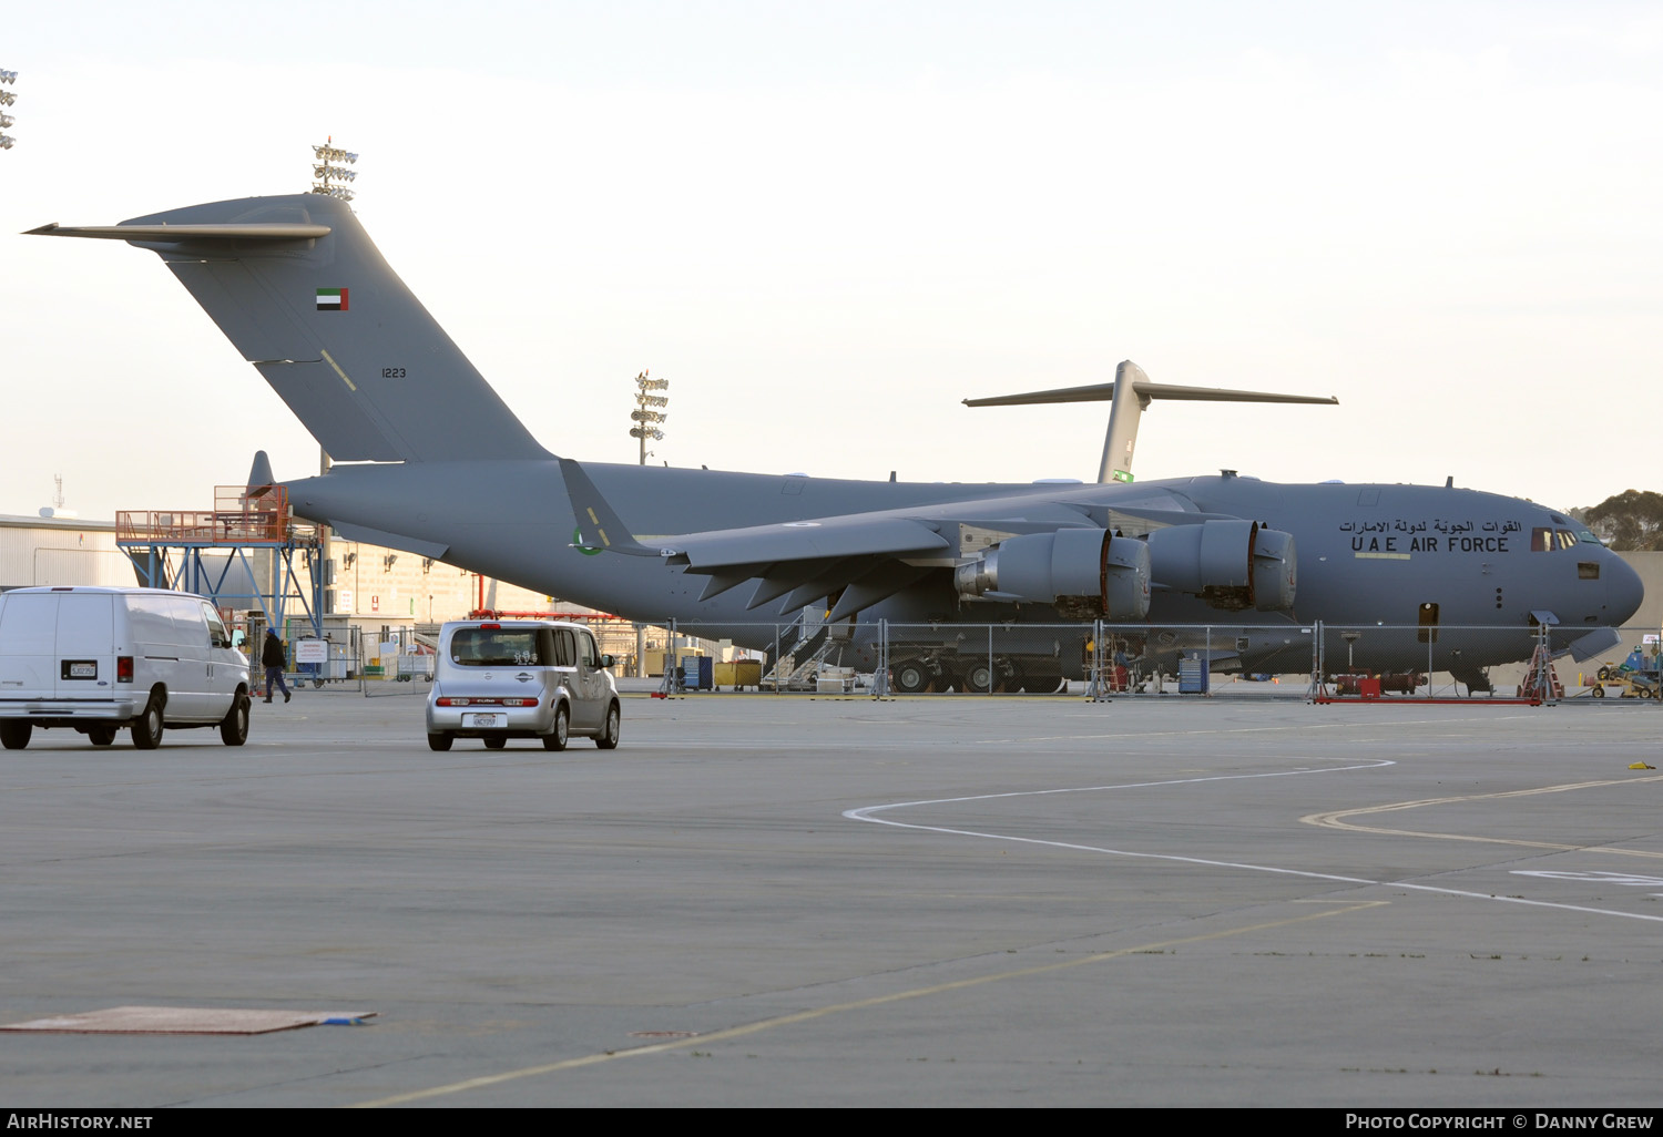
<path fill-rule="evenodd" d="M 550 450 L 823 477 L 1655 489 L 1655 3 L 43 3 L 0 22 L 0 514 L 206 509 L 318 445 L 151 254 L 20 236 L 304 191 Z"/>

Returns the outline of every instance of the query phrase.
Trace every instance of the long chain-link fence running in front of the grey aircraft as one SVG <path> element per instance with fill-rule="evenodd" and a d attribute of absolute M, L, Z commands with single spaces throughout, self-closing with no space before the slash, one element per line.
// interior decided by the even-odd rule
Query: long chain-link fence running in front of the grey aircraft
<path fill-rule="evenodd" d="M 812 612 L 665 627 L 683 643 L 750 648 L 760 688 L 778 693 L 1663 701 L 1663 637 L 1643 627 L 825 623 Z M 698 690 L 692 675 L 667 667 L 664 688 Z"/>

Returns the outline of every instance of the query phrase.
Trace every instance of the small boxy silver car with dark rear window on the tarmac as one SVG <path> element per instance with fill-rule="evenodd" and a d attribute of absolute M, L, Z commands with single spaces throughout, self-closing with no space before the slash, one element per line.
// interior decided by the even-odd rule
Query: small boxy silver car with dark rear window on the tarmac
<path fill-rule="evenodd" d="M 446 623 L 427 695 L 427 745 L 449 750 L 457 738 L 482 738 L 501 750 L 509 738 L 540 738 L 544 750 L 565 750 L 577 736 L 612 750 L 620 723 L 612 663 L 575 623 Z"/>

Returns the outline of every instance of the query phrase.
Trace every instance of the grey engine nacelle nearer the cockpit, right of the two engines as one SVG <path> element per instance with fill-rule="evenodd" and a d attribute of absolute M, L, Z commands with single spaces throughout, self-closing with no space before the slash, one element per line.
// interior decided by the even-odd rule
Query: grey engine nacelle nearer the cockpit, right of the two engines
<path fill-rule="evenodd" d="M 1249 520 L 1169 525 L 1149 534 L 1157 583 L 1214 608 L 1277 612 L 1294 607 L 1294 535 Z"/>

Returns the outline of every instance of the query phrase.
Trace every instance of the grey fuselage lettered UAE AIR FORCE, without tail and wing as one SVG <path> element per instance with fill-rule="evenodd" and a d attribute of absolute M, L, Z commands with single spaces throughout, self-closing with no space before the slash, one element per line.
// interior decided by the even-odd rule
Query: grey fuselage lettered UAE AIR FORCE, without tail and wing
<path fill-rule="evenodd" d="M 1490 652 L 1468 645 L 1465 665 L 1520 658 L 1532 613 L 1550 612 L 1562 640 L 1618 625 L 1641 587 L 1611 550 L 1542 505 L 1478 490 L 1424 485 L 1272 484 L 1251 477 L 1192 477 L 1136 485 L 858 482 L 815 477 L 584 467 L 632 534 L 655 537 L 787 524 L 841 514 L 903 510 L 930 519 L 1104 522 L 1123 504 L 1231 514 L 1285 530 L 1297 542 L 1297 595 L 1287 612 L 1224 612 L 1156 582 L 1144 623 L 1161 625 L 1417 625 L 1503 627 L 1518 635 Z M 289 482 L 299 515 L 444 547 L 449 564 L 649 623 L 717 625 L 723 638 L 765 648 L 778 602 L 748 608 L 738 587 L 700 600 L 707 577 L 652 557 L 577 547 L 575 519 L 555 460 L 338 465 Z M 396 542 L 387 542 L 396 544 Z M 1430 610 L 1427 605 L 1434 605 Z M 960 602 L 926 582 L 860 613 L 903 622 L 1068 623 L 1048 605 Z M 748 627 L 747 627 L 748 625 Z M 1089 623 L 1084 625 L 1089 628 Z M 717 628 L 712 628 L 713 632 Z M 1405 665 L 1382 637 L 1354 645 L 1359 667 Z M 1518 640 L 1517 643 L 1513 640 Z M 1302 670 L 1309 638 L 1267 637 L 1241 653 L 1244 667 Z M 1412 653 L 1407 665 L 1414 663 Z M 1482 657 L 1482 658 L 1480 658 Z M 870 662 L 856 657 L 855 662 Z M 1069 668 L 1064 668 L 1069 670 Z"/>

